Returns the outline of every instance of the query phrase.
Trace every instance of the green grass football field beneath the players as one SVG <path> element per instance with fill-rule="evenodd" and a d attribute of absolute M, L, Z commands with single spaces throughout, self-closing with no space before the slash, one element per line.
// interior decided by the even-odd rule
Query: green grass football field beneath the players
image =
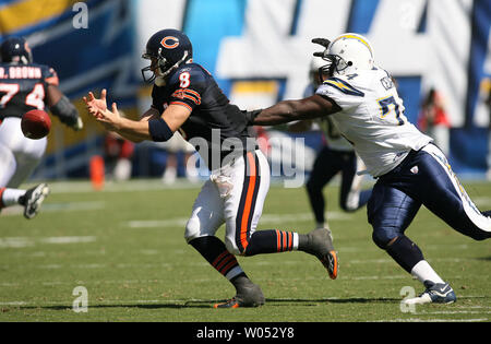
<path fill-rule="evenodd" d="M 465 183 L 480 209 L 491 209 L 491 183 Z M 474 241 L 421 209 L 407 235 L 457 294 L 453 305 L 400 309 L 403 287 L 422 292 L 371 240 L 366 210 L 343 213 L 338 188 L 325 189 L 339 252 L 339 277 L 302 252 L 239 258 L 266 305 L 214 309 L 231 285 L 183 239 L 200 188 L 133 180 L 93 191 L 88 182 L 51 183 L 43 212 L 0 215 L 0 321 L 327 322 L 489 321 L 491 241 Z M 310 232 L 303 189 L 271 188 L 259 229 Z M 224 228 L 218 234 L 224 237 Z M 87 312 L 73 304 L 87 290 Z M 76 309 L 76 308 L 75 308 Z"/>

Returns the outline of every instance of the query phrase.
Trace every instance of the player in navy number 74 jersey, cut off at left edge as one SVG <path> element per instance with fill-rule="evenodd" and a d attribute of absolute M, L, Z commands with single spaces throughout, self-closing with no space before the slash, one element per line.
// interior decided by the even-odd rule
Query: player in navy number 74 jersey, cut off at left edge
<path fill-rule="evenodd" d="M 46 183 L 32 189 L 17 187 L 29 177 L 45 154 L 47 138 L 31 140 L 21 130 L 22 116 L 49 107 L 61 122 L 80 130 L 76 108 L 58 88 L 56 71 L 33 61 L 27 41 L 10 37 L 0 47 L 0 210 L 21 204 L 24 216 L 33 218 L 49 193 Z"/>

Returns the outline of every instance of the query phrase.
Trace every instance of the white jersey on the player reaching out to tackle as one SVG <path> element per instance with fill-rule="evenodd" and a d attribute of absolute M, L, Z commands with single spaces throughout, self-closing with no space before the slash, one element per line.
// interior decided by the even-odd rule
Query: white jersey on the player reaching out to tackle
<path fill-rule="evenodd" d="M 316 94 L 333 99 L 343 109 L 330 118 L 354 144 L 373 177 L 391 171 L 411 150 L 433 141 L 408 122 L 403 100 L 383 69 L 330 78 Z"/>

